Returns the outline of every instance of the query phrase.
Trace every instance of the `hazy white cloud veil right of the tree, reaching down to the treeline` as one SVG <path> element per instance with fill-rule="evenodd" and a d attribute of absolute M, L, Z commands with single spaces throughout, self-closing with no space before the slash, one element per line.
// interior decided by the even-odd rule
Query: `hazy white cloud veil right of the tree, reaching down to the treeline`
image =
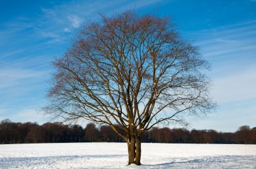
<path fill-rule="evenodd" d="M 256 21 L 252 20 L 191 32 L 191 36 L 198 37 L 196 44 L 203 56 L 212 62 L 212 96 L 219 104 L 216 113 L 201 119 L 200 123 L 193 122 L 193 127 L 220 131 L 234 131 L 241 125 L 254 127 L 255 30 Z"/>

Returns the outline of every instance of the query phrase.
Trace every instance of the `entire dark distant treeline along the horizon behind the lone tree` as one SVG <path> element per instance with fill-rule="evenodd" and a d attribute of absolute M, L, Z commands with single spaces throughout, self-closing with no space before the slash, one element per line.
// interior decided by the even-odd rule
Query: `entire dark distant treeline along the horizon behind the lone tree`
<path fill-rule="evenodd" d="M 13 123 L 5 119 L 0 123 L 0 144 L 67 143 L 67 142 L 124 142 L 110 127 L 96 127 L 63 123 Z M 256 129 L 243 125 L 234 133 L 215 130 L 191 131 L 185 128 L 154 127 L 145 131 L 142 142 L 187 144 L 256 144 Z"/>

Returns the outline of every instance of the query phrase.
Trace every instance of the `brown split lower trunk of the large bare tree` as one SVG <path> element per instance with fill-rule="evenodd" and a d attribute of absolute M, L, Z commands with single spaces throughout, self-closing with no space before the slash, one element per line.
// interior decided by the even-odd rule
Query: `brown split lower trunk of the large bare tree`
<path fill-rule="evenodd" d="M 130 164 L 136 164 L 140 165 L 140 159 L 141 159 L 141 138 L 135 139 L 134 136 L 131 136 L 130 139 L 128 139 L 127 146 L 128 146 L 128 156 L 129 156 L 129 162 Z"/>

